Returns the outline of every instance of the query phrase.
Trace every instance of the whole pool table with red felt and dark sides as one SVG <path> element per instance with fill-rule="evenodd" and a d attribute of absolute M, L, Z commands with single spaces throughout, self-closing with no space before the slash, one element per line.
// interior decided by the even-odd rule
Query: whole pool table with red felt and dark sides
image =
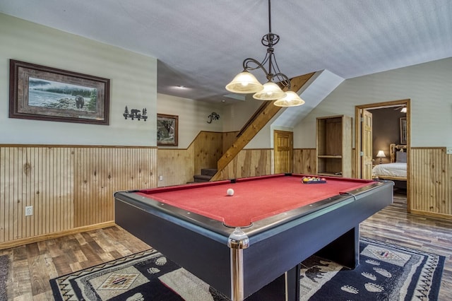
<path fill-rule="evenodd" d="M 299 264 L 319 254 L 355 268 L 359 223 L 393 201 L 392 182 L 303 177 L 118 191 L 115 220 L 231 300 L 252 298 L 280 278 L 283 298 L 299 300 Z"/>

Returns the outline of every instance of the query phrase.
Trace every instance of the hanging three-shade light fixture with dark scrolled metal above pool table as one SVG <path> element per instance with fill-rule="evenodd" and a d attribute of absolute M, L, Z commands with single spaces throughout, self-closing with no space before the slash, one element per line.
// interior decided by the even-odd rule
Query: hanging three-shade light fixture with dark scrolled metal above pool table
<path fill-rule="evenodd" d="M 243 61 L 243 71 L 226 85 L 226 90 L 232 93 L 254 93 L 253 98 L 256 100 L 277 100 L 274 105 L 280 107 L 295 107 L 297 105 L 303 105 L 304 100 L 299 98 L 297 93 L 293 91 L 284 92 L 283 88 L 290 89 L 290 79 L 281 73 L 278 63 L 276 62 L 274 48 L 279 40 L 280 36 L 271 32 L 271 9 L 270 0 L 268 0 L 268 33 L 263 35 L 261 43 L 267 47 L 266 57 L 262 62 L 256 59 L 248 58 Z M 268 69 L 266 69 L 266 65 Z M 256 77 L 249 71 L 261 69 L 267 78 L 267 83 L 263 85 L 259 83 Z M 278 83 L 280 85 L 278 85 Z"/>

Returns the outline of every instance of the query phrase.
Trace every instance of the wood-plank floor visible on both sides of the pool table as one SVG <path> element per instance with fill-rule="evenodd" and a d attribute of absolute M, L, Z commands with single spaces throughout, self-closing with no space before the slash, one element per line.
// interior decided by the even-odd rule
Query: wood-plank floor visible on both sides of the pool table
<path fill-rule="evenodd" d="M 361 235 L 446 256 L 439 300 L 452 295 L 452 221 L 406 213 L 406 199 L 365 220 Z M 0 250 L 8 254 L 8 300 L 53 300 L 49 279 L 150 247 L 118 227 Z"/>

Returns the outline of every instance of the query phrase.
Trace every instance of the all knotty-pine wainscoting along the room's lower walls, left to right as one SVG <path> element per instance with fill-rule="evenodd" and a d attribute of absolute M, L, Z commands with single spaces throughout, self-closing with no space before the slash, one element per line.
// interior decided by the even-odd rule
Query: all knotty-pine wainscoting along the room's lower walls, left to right
<path fill-rule="evenodd" d="M 0 249 L 112 225 L 114 191 L 191 182 L 227 149 L 228 136 L 204 132 L 187 149 L 0 146 Z M 294 172 L 315 175 L 315 158 L 314 148 L 295 149 Z M 452 219 L 452 155 L 410 148 L 409 164 L 408 210 Z M 244 149 L 221 176 L 269 175 L 272 165 L 273 150 Z"/>

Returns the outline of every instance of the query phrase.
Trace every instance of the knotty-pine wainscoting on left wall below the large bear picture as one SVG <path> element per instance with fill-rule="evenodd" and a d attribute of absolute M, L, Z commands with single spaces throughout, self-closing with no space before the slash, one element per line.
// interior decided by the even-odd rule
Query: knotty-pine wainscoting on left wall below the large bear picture
<path fill-rule="evenodd" d="M 157 148 L 0 146 L 0 249 L 112 224 L 114 191 L 156 173 Z"/>

